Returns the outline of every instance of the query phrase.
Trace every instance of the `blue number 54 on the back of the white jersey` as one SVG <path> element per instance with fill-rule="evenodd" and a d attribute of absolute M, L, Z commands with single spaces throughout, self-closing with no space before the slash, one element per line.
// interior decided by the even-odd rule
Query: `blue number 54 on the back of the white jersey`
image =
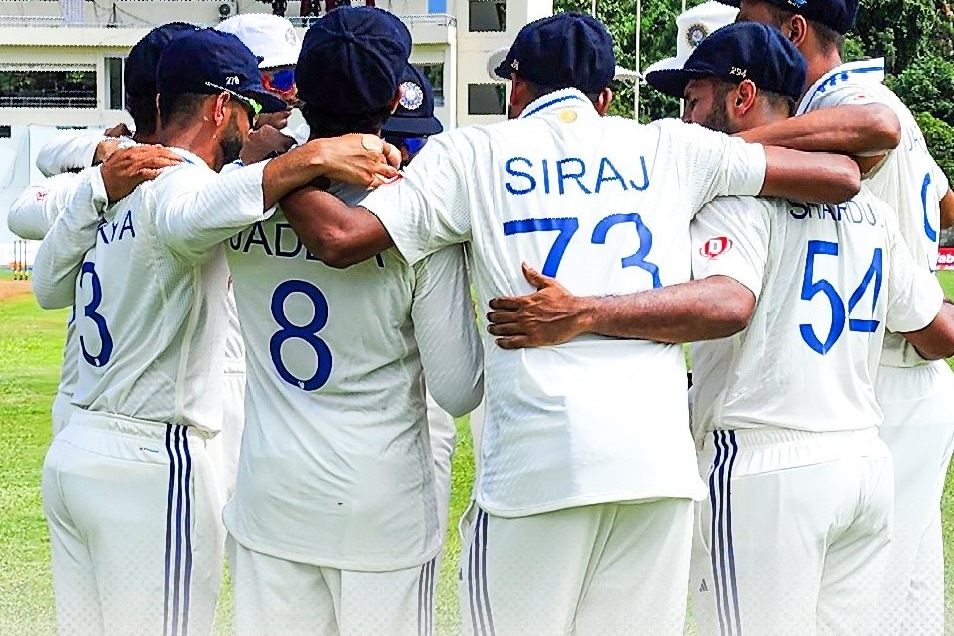
<path fill-rule="evenodd" d="M 825 337 L 824 342 L 815 334 L 815 328 L 812 325 L 803 323 L 800 324 L 798 328 L 799 331 L 801 331 L 802 340 L 805 341 L 805 344 L 811 347 L 813 351 L 825 355 L 835 346 L 838 338 L 841 337 L 841 334 L 845 330 L 846 312 L 845 301 L 842 300 L 834 285 L 824 278 L 819 278 L 817 281 L 815 280 L 815 257 L 821 255 L 838 256 L 838 243 L 832 243 L 830 241 L 808 242 L 808 255 L 805 259 L 805 276 L 802 279 L 801 299 L 811 300 L 818 294 L 823 294 L 831 305 L 831 327 L 828 328 L 828 335 Z M 878 304 L 878 295 L 881 293 L 881 279 L 882 256 L 881 248 L 878 247 L 875 248 L 874 254 L 871 256 L 871 265 L 868 266 L 868 270 L 862 277 L 858 287 L 855 288 L 855 291 L 853 291 L 848 298 L 848 315 L 851 314 L 855 306 L 861 301 L 868 286 L 872 283 L 874 284 L 874 292 L 871 297 L 871 310 L 872 312 L 874 311 L 875 306 Z M 879 324 L 877 320 L 848 318 L 848 331 L 874 333 Z"/>

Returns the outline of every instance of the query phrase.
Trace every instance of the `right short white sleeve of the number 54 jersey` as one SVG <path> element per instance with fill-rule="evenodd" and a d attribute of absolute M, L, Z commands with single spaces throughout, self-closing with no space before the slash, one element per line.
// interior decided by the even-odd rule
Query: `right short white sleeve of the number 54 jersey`
<path fill-rule="evenodd" d="M 888 311 L 885 327 L 906 333 L 928 326 L 944 302 L 944 291 L 934 274 L 919 267 L 897 228 L 894 215 L 885 210 L 888 231 Z"/>

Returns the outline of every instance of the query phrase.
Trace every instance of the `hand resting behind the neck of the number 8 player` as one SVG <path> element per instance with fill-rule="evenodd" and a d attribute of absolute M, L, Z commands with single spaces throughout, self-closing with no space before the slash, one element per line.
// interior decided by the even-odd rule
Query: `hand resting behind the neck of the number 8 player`
<path fill-rule="evenodd" d="M 302 146 L 310 164 L 333 181 L 377 187 L 397 176 L 401 152 L 376 135 L 350 134 L 314 139 Z"/>

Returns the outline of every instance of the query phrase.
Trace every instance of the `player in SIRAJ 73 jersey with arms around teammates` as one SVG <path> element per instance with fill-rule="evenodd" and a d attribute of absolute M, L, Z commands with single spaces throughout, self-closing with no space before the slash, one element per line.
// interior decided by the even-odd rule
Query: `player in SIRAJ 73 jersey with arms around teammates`
<path fill-rule="evenodd" d="M 682 282 L 689 219 L 712 198 L 843 200 L 858 188 L 844 158 L 601 117 L 614 70 L 612 38 L 594 18 L 532 22 L 497 69 L 513 81 L 514 120 L 431 137 L 361 207 L 305 190 L 283 201 L 286 217 L 339 266 L 392 241 L 411 263 L 469 243 L 486 305 L 527 289 L 521 261 L 592 294 Z M 705 493 L 682 350 L 603 338 L 492 347 L 485 369 L 465 630 L 681 634 L 692 499 Z"/>

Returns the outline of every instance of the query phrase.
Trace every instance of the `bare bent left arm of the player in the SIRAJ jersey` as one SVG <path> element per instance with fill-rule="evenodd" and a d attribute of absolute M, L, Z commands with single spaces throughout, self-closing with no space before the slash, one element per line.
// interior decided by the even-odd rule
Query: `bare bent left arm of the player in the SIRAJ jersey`
<path fill-rule="evenodd" d="M 305 247 L 331 267 L 350 267 L 393 246 L 378 217 L 317 188 L 293 192 L 281 206 Z"/>

